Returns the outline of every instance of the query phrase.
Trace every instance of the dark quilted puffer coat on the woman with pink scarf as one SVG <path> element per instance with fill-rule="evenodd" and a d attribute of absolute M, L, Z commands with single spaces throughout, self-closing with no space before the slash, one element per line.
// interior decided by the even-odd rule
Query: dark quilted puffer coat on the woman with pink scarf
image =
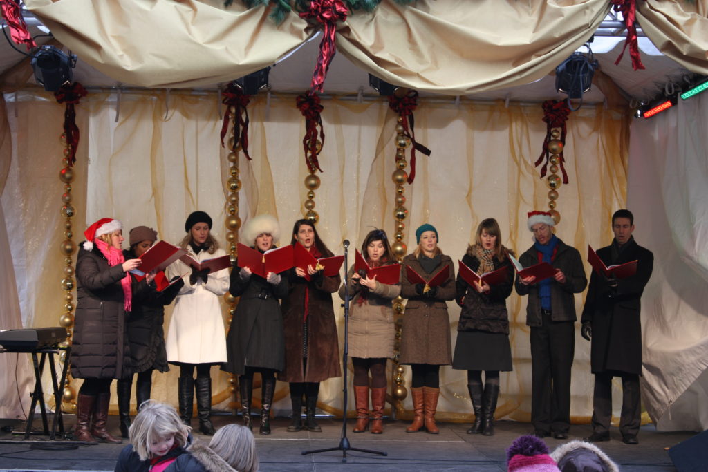
<path fill-rule="evenodd" d="M 109 267 L 98 248 L 79 246 L 71 359 L 76 379 L 121 379 L 130 373 L 123 277 L 122 265 Z"/>

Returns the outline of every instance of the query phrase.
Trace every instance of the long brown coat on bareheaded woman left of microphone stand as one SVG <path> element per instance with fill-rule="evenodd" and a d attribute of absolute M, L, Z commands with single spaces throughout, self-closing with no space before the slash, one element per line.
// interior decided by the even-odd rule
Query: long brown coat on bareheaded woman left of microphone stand
<path fill-rule="evenodd" d="M 328 251 L 324 258 L 332 257 Z M 287 271 L 290 292 L 280 309 L 285 328 L 285 369 L 278 374 L 284 382 L 321 382 L 341 376 L 339 342 L 334 321 L 332 294 L 341 284 L 341 277 L 315 276 L 307 282 L 297 277 L 295 269 Z M 307 353 L 304 352 L 304 301 L 308 293 Z M 306 356 L 307 354 L 307 356 Z M 307 369 L 302 358 L 307 357 Z"/>

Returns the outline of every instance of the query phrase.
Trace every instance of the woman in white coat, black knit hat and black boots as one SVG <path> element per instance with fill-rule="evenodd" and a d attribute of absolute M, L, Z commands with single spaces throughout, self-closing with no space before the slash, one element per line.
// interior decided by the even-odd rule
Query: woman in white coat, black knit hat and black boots
<path fill-rule="evenodd" d="M 210 233 L 212 219 L 205 212 L 190 214 L 184 229 L 187 235 L 180 246 L 199 263 L 226 255 Z M 189 270 L 181 262 L 170 268 L 182 270 L 182 273 Z M 170 277 L 173 275 L 180 274 L 171 273 Z M 204 434 L 214 434 L 210 420 L 210 370 L 212 365 L 227 360 L 226 332 L 220 302 L 222 295 L 229 289 L 229 270 L 222 269 L 211 274 L 192 270 L 184 279 L 184 287 L 177 295 L 167 331 L 167 360 L 180 367 L 178 398 L 182 421 L 190 425 L 196 386 L 199 430 Z M 195 369 L 196 380 L 193 379 Z"/>

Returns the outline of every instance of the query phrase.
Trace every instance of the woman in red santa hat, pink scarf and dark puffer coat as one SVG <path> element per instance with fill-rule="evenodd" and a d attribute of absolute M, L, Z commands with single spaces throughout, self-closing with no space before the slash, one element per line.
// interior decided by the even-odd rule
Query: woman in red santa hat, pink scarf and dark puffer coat
<path fill-rule="evenodd" d="M 86 241 L 76 258 L 76 316 L 72 343 L 72 376 L 84 379 L 76 401 L 74 438 L 90 444 L 97 439 L 121 442 L 106 429 L 110 382 L 127 373 L 125 318 L 131 309 L 128 271 L 139 259 L 125 260 L 122 224 L 101 218 L 84 231 Z M 152 281 L 144 280 L 147 284 Z"/>

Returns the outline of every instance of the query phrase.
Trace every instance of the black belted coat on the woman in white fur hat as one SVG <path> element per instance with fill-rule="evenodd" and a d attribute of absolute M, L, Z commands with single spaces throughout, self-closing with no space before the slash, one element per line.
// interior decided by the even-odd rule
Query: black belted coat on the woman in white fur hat
<path fill-rule="evenodd" d="M 242 375 L 245 367 L 275 369 L 285 367 L 285 333 L 278 299 L 287 297 L 287 275 L 278 285 L 251 274 L 244 281 L 236 265 L 231 271 L 229 293 L 241 297 L 226 338 L 227 363 L 222 370 Z"/>

